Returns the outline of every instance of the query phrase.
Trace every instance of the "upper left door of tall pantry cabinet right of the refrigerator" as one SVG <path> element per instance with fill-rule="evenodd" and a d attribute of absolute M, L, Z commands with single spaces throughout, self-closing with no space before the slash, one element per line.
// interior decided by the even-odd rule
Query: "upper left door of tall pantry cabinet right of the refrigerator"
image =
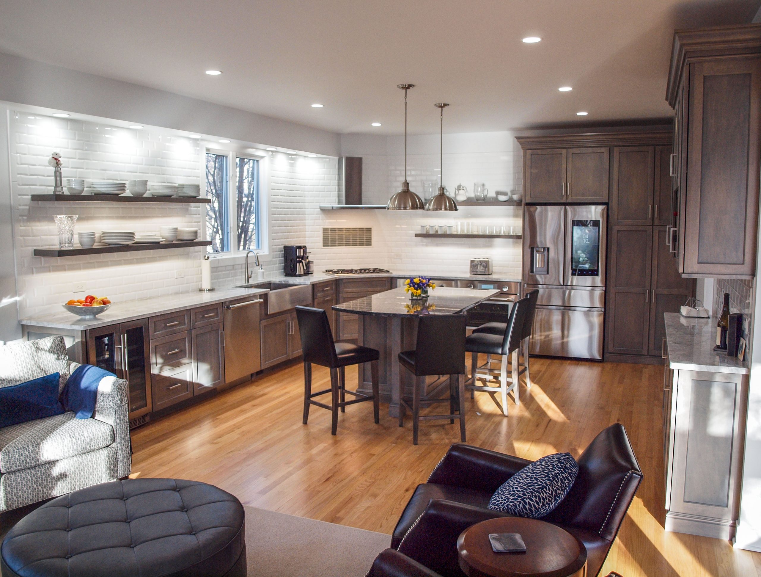
<path fill-rule="evenodd" d="M 611 225 L 653 223 L 655 148 L 613 148 L 613 186 L 610 192 Z"/>

